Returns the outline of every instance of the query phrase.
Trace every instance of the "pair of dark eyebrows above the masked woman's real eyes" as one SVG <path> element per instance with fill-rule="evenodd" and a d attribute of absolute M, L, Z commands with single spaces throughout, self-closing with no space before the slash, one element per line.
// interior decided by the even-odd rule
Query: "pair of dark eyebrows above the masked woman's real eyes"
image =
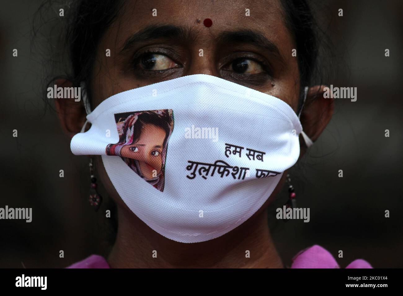
<path fill-rule="evenodd" d="M 167 24 L 150 25 L 127 38 L 120 54 L 129 50 L 136 43 L 143 41 L 164 38 L 179 39 L 191 43 L 195 41 L 196 37 L 197 33 L 193 32 L 189 27 Z M 263 50 L 268 50 L 272 55 L 284 62 L 276 44 L 266 38 L 262 33 L 255 30 L 241 29 L 236 31 L 224 31 L 215 38 L 215 41 L 217 43 L 249 43 Z"/>

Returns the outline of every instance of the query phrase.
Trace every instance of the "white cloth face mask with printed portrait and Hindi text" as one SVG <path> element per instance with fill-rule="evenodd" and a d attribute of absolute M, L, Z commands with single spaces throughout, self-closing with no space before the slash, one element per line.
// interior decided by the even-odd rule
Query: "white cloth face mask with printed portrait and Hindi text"
<path fill-rule="evenodd" d="M 102 155 L 131 211 L 187 243 L 222 236 L 262 207 L 297 161 L 302 132 L 284 101 L 203 74 L 118 93 L 87 120 L 71 151 Z"/>

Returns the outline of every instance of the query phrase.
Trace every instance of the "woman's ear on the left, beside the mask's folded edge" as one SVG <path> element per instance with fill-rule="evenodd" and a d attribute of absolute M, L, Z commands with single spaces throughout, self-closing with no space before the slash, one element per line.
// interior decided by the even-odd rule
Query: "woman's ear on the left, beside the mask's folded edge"
<path fill-rule="evenodd" d="M 73 87 L 73 83 L 66 79 L 57 79 L 55 84 L 57 87 Z M 81 99 L 80 101 L 75 101 L 74 97 L 54 98 L 54 104 L 64 133 L 72 138 L 81 131 L 86 120 L 87 113 L 83 102 L 81 102 Z"/>

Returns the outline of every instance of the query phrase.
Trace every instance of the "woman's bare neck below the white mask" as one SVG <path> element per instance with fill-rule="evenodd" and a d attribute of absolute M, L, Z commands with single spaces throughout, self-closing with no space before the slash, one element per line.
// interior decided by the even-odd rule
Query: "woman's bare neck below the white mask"
<path fill-rule="evenodd" d="M 127 208 L 118 207 L 118 217 L 112 268 L 283 268 L 266 210 L 219 238 L 191 244 L 161 236 Z"/>

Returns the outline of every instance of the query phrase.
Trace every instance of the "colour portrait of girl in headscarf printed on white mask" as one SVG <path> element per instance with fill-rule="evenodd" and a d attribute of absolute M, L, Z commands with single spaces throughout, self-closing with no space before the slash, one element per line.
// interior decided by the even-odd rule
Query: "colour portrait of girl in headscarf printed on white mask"
<path fill-rule="evenodd" d="M 119 142 L 106 147 L 107 155 L 122 157 L 141 178 L 164 191 L 167 144 L 173 129 L 172 110 L 115 114 Z"/>

